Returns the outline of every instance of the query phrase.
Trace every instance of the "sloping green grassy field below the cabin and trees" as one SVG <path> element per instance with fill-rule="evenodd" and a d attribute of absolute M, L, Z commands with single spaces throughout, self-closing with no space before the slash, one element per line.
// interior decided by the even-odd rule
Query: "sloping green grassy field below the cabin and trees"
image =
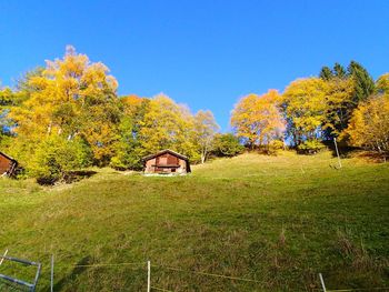
<path fill-rule="evenodd" d="M 42 262 L 39 291 L 51 254 L 54 291 L 146 291 L 147 260 L 152 285 L 168 291 L 315 291 L 319 272 L 328 289 L 389 286 L 389 163 L 336 163 L 283 152 L 215 160 L 188 177 L 3 179 L 0 253 Z M 0 273 L 32 276 L 8 262 Z"/>

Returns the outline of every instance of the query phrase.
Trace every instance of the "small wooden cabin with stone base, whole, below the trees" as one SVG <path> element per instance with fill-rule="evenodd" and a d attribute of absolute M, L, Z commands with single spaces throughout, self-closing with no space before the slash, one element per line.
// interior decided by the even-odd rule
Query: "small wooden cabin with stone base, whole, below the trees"
<path fill-rule="evenodd" d="M 143 158 L 144 173 L 184 174 L 190 172 L 189 159 L 166 149 Z"/>

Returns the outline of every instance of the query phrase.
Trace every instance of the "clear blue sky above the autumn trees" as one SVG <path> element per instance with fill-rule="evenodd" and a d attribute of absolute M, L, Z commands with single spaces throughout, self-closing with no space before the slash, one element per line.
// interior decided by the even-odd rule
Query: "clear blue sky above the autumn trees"
<path fill-rule="evenodd" d="M 388 72 L 388 16 L 387 0 L 0 0 L 0 80 L 12 85 L 72 44 L 110 68 L 119 94 L 163 92 L 228 130 L 240 97 L 325 64 Z"/>

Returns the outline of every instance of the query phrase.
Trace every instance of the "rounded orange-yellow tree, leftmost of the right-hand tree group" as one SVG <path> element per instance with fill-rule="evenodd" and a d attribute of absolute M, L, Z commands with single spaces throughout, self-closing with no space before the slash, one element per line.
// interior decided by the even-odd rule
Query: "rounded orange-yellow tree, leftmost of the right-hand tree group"
<path fill-rule="evenodd" d="M 269 90 L 262 95 L 243 97 L 236 104 L 231 125 L 250 148 L 268 147 L 272 140 L 282 138 L 285 123 L 279 110 L 280 100 L 277 90 Z"/>

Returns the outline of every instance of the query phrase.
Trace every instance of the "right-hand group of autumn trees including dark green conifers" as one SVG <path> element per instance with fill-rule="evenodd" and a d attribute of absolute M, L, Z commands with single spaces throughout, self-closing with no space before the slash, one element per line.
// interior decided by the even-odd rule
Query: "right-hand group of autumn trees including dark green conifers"
<path fill-rule="evenodd" d="M 292 81 L 282 93 L 249 94 L 236 104 L 231 124 L 249 148 L 269 151 L 287 142 L 317 152 L 323 142 L 389 154 L 389 73 L 377 82 L 358 62 L 323 67 L 319 77 Z"/>

